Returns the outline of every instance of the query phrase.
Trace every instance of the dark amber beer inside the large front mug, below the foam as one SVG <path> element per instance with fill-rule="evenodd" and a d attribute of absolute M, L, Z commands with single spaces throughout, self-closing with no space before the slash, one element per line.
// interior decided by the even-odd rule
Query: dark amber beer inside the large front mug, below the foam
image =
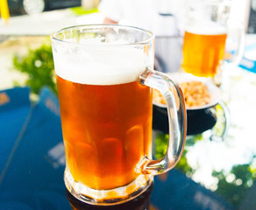
<path fill-rule="evenodd" d="M 88 85 L 57 76 L 68 171 L 93 189 L 136 179 L 139 159 L 151 157 L 152 94 L 138 81 Z"/>

